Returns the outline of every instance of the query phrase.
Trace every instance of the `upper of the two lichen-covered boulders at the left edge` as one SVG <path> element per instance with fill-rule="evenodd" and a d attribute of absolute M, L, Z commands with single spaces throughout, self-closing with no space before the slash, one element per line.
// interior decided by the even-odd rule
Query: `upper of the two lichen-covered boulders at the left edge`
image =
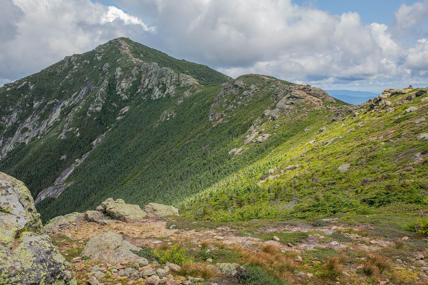
<path fill-rule="evenodd" d="M 24 183 L 0 172 L 0 243 L 13 244 L 23 229 L 41 232 L 40 214 Z"/>

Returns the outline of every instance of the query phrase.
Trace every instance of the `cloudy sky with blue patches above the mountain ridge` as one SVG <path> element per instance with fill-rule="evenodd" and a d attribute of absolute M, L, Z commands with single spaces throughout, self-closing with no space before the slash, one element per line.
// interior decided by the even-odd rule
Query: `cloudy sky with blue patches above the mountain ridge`
<path fill-rule="evenodd" d="M 121 36 L 234 78 L 428 86 L 428 0 L 0 0 L 0 86 Z"/>

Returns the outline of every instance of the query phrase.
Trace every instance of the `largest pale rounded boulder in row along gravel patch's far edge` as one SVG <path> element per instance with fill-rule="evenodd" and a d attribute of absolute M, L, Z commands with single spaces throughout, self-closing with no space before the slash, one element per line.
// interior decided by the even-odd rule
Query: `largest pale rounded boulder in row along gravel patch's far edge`
<path fill-rule="evenodd" d="M 147 216 L 140 206 L 126 204 L 124 200 L 117 199 L 116 201 L 113 198 L 108 198 L 97 207 L 97 209 L 104 209 L 103 212 L 106 212 L 110 217 L 115 220 L 124 220 L 126 222 L 132 222 L 137 220 L 142 220 Z"/>

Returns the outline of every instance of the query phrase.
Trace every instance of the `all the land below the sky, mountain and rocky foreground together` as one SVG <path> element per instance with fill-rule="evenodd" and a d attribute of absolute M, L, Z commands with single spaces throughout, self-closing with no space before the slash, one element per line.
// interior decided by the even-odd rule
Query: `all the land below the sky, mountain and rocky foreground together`
<path fill-rule="evenodd" d="M 129 38 L 67 56 L 0 88 L 0 284 L 427 284 L 427 111 Z"/>

